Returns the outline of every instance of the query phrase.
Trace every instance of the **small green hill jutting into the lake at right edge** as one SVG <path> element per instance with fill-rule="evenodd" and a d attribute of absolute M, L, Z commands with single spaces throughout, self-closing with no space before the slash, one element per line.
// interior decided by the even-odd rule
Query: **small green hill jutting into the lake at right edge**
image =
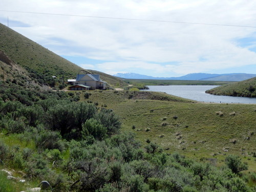
<path fill-rule="evenodd" d="M 237 97 L 256 97 L 256 77 L 207 90 L 206 93 Z"/>

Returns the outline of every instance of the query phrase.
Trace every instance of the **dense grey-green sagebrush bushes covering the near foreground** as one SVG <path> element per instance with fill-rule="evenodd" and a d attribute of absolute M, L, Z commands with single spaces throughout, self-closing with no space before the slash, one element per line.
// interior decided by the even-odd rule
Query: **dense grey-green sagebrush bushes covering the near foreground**
<path fill-rule="evenodd" d="M 0 131 L 18 141 L 0 140 L 0 160 L 22 170 L 26 180 L 47 180 L 54 191 L 255 191 L 246 183 L 255 175 L 241 174 L 247 165 L 237 156 L 218 168 L 166 154 L 149 139 L 142 148 L 134 134 L 119 133 L 121 121 L 112 110 L 66 93 L 24 91 L 29 104 L 11 92 L 0 100 Z"/>

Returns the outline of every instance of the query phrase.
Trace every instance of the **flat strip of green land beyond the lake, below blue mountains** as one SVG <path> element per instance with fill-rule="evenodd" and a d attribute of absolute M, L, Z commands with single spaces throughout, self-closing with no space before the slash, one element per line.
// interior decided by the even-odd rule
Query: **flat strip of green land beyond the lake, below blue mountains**
<path fill-rule="evenodd" d="M 144 83 L 146 86 L 220 86 L 223 84 L 233 83 L 234 81 L 197 81 L 197 80 L 160 80 L 160 79 L 122 79 L 129 84 Z"/>

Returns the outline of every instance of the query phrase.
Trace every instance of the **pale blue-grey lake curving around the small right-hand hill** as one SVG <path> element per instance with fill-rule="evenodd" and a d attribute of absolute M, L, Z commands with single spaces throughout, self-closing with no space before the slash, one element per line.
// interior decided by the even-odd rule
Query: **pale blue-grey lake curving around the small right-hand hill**
<path fill-rule="evenodd" d="M 256 98 L 248 97 L 231 97 L 231 96 L 220 96 L 210 95 L 205 93 L 206 90 L 216 88 L 218 86 L 147 86 L 150 90 L 165 92 L 170 95 L 178 97 L 192 99 L 203 102 L 216 102 L 216 103 L 256 103 Z"/>

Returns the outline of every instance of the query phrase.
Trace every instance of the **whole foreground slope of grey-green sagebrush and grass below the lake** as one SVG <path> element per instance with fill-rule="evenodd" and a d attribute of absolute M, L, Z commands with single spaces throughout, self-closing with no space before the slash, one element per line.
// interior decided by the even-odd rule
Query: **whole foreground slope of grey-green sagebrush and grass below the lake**
<path fill-rule="evenodd" d="M 38 92 L 3 81 L 0 97 L 3 192 L 42 180 L 54 191 L 255 190 L 253 105 L 214 107 L 154 92 Z"/>

